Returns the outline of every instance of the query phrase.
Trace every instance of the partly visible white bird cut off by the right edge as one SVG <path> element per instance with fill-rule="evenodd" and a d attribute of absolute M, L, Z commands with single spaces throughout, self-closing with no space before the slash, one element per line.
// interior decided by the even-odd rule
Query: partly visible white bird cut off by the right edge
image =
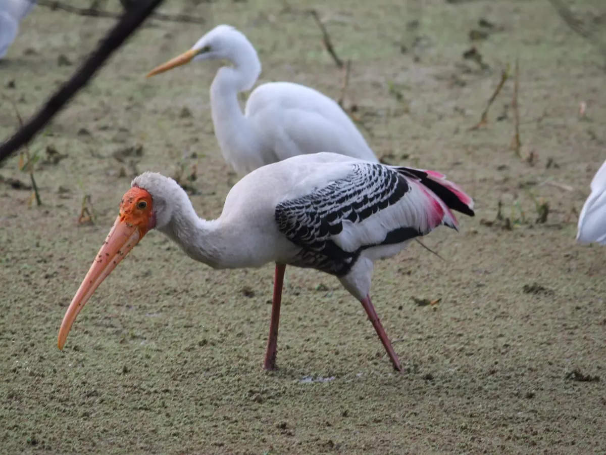
<path fill-rule="evenodd" d="M 579 215 L 576 240 L 606 244 L 606 161 L 591 180 L 591 194 Z"/>

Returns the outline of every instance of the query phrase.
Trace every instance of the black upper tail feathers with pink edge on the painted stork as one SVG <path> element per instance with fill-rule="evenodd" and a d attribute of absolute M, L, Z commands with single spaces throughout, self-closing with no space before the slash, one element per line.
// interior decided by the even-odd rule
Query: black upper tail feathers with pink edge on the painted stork
<path fill-rule="evenodd" d="M 414 169 L 412 167 L 395 167 L 399 174 L 407 178 L 419 181 L 423 186 L 430 189 L 433 194 L 439 197 L 448 206 L 449 209 L 456 210 L 462 214 L 473 217 L 473 199 L 456 184 L 446 180 L 444 174 L 435 170 Z"/>

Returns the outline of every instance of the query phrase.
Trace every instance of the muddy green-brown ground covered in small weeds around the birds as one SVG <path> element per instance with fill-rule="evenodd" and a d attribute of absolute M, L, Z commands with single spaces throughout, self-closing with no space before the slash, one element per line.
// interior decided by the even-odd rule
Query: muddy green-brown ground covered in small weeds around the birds
<path fill-rule="evenodd" d="M 604 453 L 606 250 L 574 236 L 606 157 L 606 9 L 568 5 L 591 39 L 545 0 L 167 2 L 164 12 L 206 24 L 148 21 L 36 138 L 42 206 L 15 189 L 29 184 L 18 157 L 0 168 L 2 451 Z M 351 59 L 345 106 L 377 155 L 441 170 L 476 201 L 461 232 L 425 238 L 446 260 L 412 244 L 378 264 L 373 298 L 404 374 L 335 278 L 295 268 L 279 369 L 262 371 L 272 266 L 213 271 L 157 232 L 98 289 L 59 351 L 65 309 L 133 174 L 181 177 L 204 217 L 220 214 L 238 178 L 210 120 L 219 64 L 145 73 L 228 23 L 258 49 L 262 82 L 336 99 L 343 73 L 308 7 Z M 36 7 L 0 62 L 2 94 L 31 115 L 113 23 Z M 463 58 L 473 46 L 481 64 Z M 510 149 L 513 78 L 488 123 L 469 130 L 516 58 L 521 158 Z M 0 137 L 15 127 L 2 98 Z M 85 195 L 94 224 L 78 221 Z"/>

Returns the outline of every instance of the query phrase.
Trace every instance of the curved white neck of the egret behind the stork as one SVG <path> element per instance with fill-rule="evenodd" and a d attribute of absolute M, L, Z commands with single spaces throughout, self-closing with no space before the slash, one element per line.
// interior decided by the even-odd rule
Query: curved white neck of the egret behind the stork
<path fill-rule="evenodd" d="M 245 163 L 258 155 L 259 147 L 258 136 L 238 102 L 238 93 L 250 89 L 261 71 L 256 52 L 251 51 L 239 53 L 233 67 L 219 69 L 210 86 L 215 135 L 225 160 L 240 174 L 250 172 L 250 166 Z"/>

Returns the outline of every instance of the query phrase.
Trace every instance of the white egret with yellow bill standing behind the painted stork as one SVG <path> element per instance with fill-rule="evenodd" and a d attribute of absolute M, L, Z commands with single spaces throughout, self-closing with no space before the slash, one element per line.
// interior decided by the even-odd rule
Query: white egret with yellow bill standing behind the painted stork
<path fill-rule="evenodd" d="M 255 84 L 261 62 L 246 36 L 231 25 L 218 25 L 190 50 L 147 76 L 210 59 L 225 59 L 233 65 L 218 70 L 210 86 L 210 104 L 223 157 L 239 174 L 324 151 L 378 161 L 341 107 L 310 87 L 288 82 L 261 84 L 250 94 L 242 113 L 238 93 Z"/>

